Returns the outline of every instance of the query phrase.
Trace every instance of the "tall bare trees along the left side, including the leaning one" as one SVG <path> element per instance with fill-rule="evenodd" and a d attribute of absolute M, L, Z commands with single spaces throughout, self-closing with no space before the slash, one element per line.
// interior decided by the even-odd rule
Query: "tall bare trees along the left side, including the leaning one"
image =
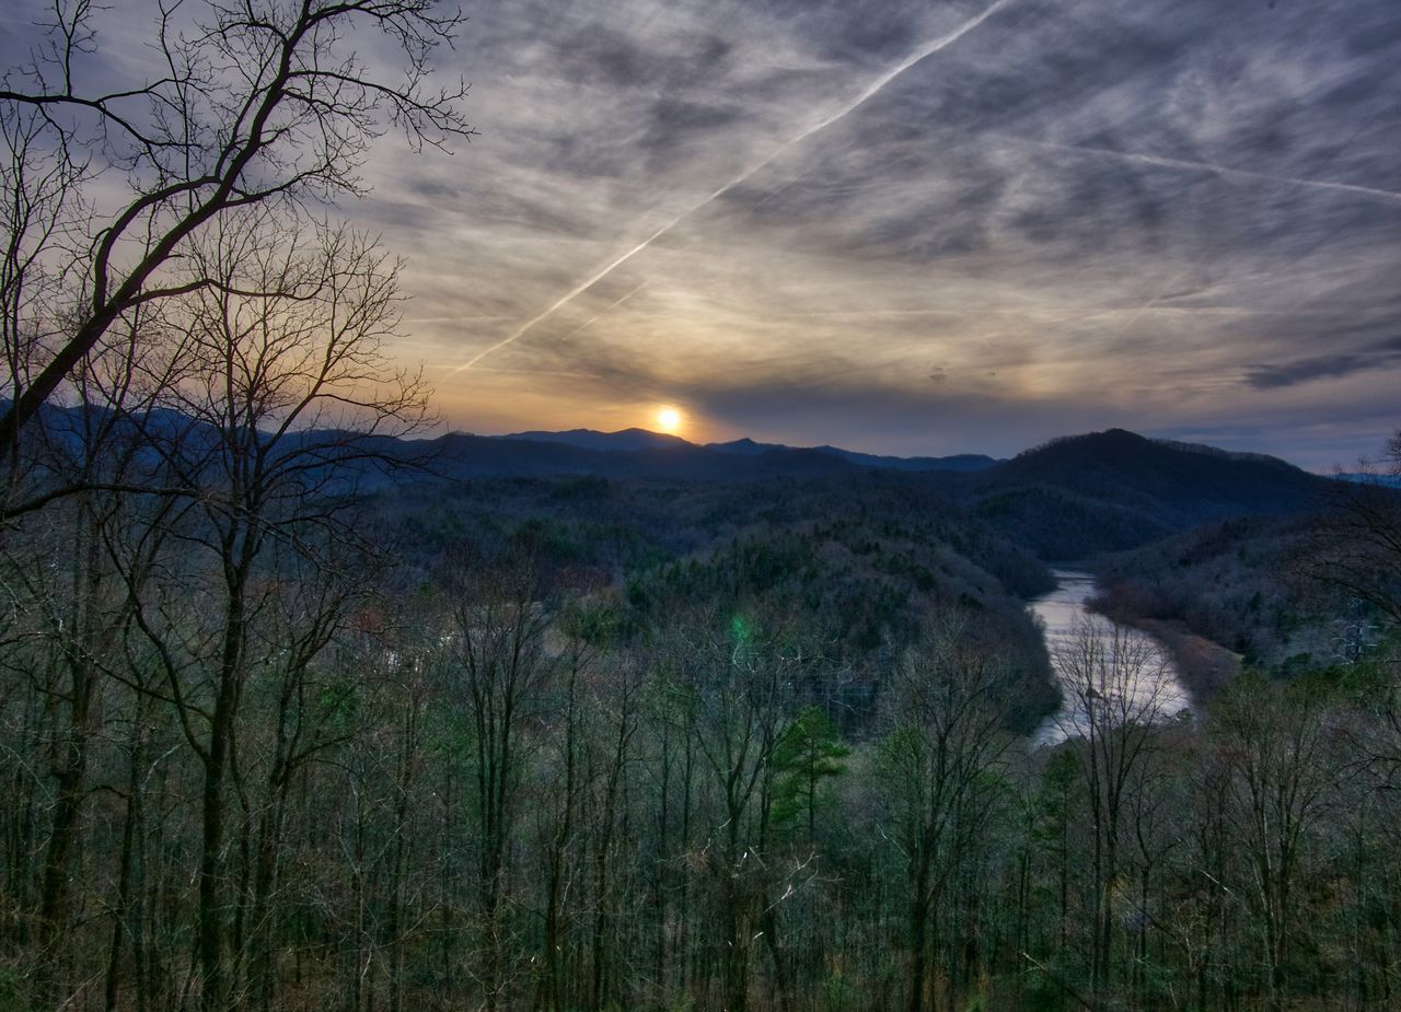
<path fill-rule="evenodd" d="M 412 147 L 469 133 L 465 88 L 429 78 L 461 18 L 430 0 L 161 4 L 143 76 L 85 91 L 104 14 L 53 3 L 0 81 L 3 512 L 36 514 L 0 532 L 3 641 L 38 705 L 15 740 L 53 754 L 17 767 L 10 864 L 42 871 L 13 929 L 36 953 L 25 994 L 59 1004 L 94 921 L 71 883 L 111 791 L 104 1005 L 129 946 L 140 1006 L 266 1006 L 289 801 L 343 736 L 318 665 L 367 588 L 336 497 L 373 437 L 425 417 L 380 353 L 395 265 L 314 210 L 359 192 L 387 130 Z M 375 38 L 398 59 L 361 59 Z M 94 782 L 112 749 L 125 780 Z M 151 834 L 153 778 L 199 798 L 193 837 Z M 167 934 L 147 869 L 185 850 L 195 913 L 175 943 L 186 928 Z"/>

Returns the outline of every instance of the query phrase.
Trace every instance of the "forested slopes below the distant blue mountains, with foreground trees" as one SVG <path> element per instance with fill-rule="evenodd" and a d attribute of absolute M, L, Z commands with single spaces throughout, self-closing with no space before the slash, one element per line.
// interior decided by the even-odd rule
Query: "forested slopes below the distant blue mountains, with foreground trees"
<path fill-rule="evenodd" d="M 1135 701 L 1034 749 L 1048 572 L 918 476 L 347 497 L 377 438 L 209 417 L 43 445 L 7 530 L 11 1008 L 1391 1005 L 1394 640 L 1296 649 L 1306 516 L 1105 561 L 1265 673 L 1168 719 L 1086 630 Z"/>

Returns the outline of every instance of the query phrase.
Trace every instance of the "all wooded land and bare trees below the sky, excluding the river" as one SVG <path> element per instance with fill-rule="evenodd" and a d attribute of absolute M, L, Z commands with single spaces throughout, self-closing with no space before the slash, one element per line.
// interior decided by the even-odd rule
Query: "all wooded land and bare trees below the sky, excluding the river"
<path fill-rule="evenodd" d="M 57 10 L 0 91 L 0 1012 L 1401 1002 L 1401 434 L 454 476 L 318 202 L 471 133 L 455 20 L 212 3 L 133 119 Z M 1068 560 L 1121 624 L 1048 648 Z M 1229 663 L 1174 712 L 1133 624 Z"/>

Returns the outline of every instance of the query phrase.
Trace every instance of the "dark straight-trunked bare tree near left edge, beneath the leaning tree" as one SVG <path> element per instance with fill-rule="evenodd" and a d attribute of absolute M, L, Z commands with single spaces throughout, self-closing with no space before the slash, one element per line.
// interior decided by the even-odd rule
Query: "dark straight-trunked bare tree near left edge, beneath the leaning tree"
<path fill-rule="evenodd" d="M 62 998 L 56 960 L 70 959 L 74 948 L 70 896 L 94 792 L 90 757 L 101 746 L 108 700 L 119 691 L 113 682 L 140 677 L 122 649 L 132 619 L 127 578 L 144 581 L 142 574 L 161 540 L 143 540 L 120 564 L 109 557 L 112 539 L 130 521 L 129 503 L 116 490 L 149 472 L 142 456 L 150 448 L 102 409 L 120 399 L 150 406 L 157 393 L 137 378 L 129 344 L 129 333 L 112 332 L 105 347 L 83 361 L 74 391 L 81 405 L 95 410 L 64 413 L 34 441 L 43 458 L 43 480 L 81 491 L 62 497 L 59 508 L 32 516 L 27 528 L 11 529 L 0 550 L 4 584 L 17 606 L 7 631 L 21 642 L 31 641 L 28 649 L 39 645 L 48 651 L 29 677 L 41 679 L 43 691 L 62 701 L 50 710 L 46 732 L 55 743 L 52 819 L 34 911 L 41 952 L 35 991 L 55 1002 Z M 31 500 L 49 501 L 42 496 Z"/>

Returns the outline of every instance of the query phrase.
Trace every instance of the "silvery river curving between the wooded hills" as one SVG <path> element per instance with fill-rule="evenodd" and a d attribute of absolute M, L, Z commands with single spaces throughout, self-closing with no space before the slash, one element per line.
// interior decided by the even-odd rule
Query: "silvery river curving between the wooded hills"
<path fill-rule="evenodd" d="M 1163 645 L 1131 626 L 1118 626 L 1103 614 L 1086 609 L 1084 602 L 1094 595 L 1094 578 L 1077 570 L 1056 570 L 1058 586 L 1031 602 L 1031 612 L 1045 627 L 1051 668 L 1061 680 L 1061 710 L 1051 714 L 1037 729 L 1037 745 L 1056 745 L 1070 735 L 1083 733 L 1087 705 L 1103 705 L 1119 714 L 1153 715 L 1157 719 L 1175 717 L 1192 705 L 1187 689 L 1178 677 L 1173 659 Z M 1076 644 L 1083 628 L 1100 637 L 1103 655 L 1110 658 L 1103 668 L 1110 673 L 1090 691 L 1076 691 Z M 1117 638 L 1115 638 L 1117 637 Z M 1083 644 L 1079 651 L 1084 656 Z M 1091 698 L 1086 700 L 1089 696 Z"/>

